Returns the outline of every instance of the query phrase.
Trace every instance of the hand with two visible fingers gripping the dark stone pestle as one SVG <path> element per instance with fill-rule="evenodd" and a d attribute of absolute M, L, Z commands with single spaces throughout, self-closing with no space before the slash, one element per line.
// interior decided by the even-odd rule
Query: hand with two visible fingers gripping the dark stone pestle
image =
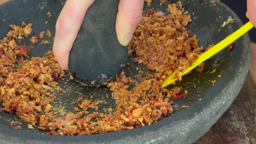
<path fill-rule="evenodd" d="M 53 54 L 61 69 L 68 69 L 69 52 L 94 0 L 67 0 L 56 23 Z M 144 0 L 120 0 L 116 18 L 116 34 L 121 45 L 127 46 L 142 19 Z"/>

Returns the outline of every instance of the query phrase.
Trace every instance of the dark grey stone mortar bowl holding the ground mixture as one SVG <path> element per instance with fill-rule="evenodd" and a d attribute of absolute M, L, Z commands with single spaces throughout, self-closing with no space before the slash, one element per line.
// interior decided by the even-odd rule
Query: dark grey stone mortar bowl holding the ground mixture
<path fill-rule="evenodd" d="M 216 44 L 239 27 L 242 22 L 237 15 L 231 11 L 226 5 L 219 1 L 211 3 L 208 0 L 181 0 L 185 11 L 188 11 L 192 16 L 192 22 L 188 25 L 188 29 L 192 31 L 192 35 L 197 35 L 198 43 L 204 48 L 211 44 Z M 62 0 L 11 0 L 0 5 L 0 37 L 3 38 L 9 31 L 9 24 L 20 25 L 22 21 L 33 23 L 33 33 L 35 35 L 42 30 L 49 29 L 54 36 L 55 23 L 58 15 L 64 5 Z M 153 0 L 151 6 L 145 3 L 144 10 L 154 8 L 166 12 L 167 4 L 173 3 L 168 1 L 162 6 L 160 1 Z M 41 9 L 40 7 L 44 7 Z M 52 12 L 52 18 L 48 19 L 46 13 Z M 194 15 L 192 15 L 194 12 Z M 235 19 L 234 23 L 228 24 L 225 27 L 220 27 L 223 21 L 226 21 L 228 16 Z M 5 19 L 3 21 L 2 19 Z M 45 24 L 45 21 L 49 21 Z M 220 31 L 218 31 L 220 29 Z M 52 49 L 53 38 L 48 38 L 50 45 L 32 45 L 28 39 L 23 43 L 33 46 L 31 56 L 42 57 L 45 52 Z M 218 118 L 227 110 L 230 104 L 238 95 L 242 88 L 245 76 L 247 75 L 250 64 L 250 41 L 249 36 L 245 34 L 236 41 L 236 46 L 230 51 L 224 49 L 211 59 L 206 61 L 205 69 L 202 73 L 197 73 L 195 70 L 191 75 L 183 76 L 183 80 L 177 82 L 175 86 L 183 86 L 188 91 L 185 98 L 174 100 L 173 115 L 160 120 L 156 123 L 145 127 L 119 132 L 110 132 L 104 134 L 94 134 L 85 136 L 52 136 L 43 135 L 44 131 L 37 129 L 27 129 L 27 124 L 23 123 L 15 114 L 5 112 L 0 113 L 0 141 L 1 144 L 71 144 L 71 143 L 87 143 L 87 144 L 113 144 L 113 143 L 145 143 L 145 144 L 184 144 L 193 143 L 218 120 Z M 218 59 L 219 63 L 214 61 Z M 144 66 L 134 63 L 131 58 L 128 60 L 130 66 L 125 67 L 126 74 L 136 79 L 138 72 L 136 67 L 143 71 L 149 71 Z M 127 69 L 130 69 L 129 72 Z M 216 69 L 215 73 L 210 74 Z M 221 75 L 220 78 L 217 75 Z M 59 92 L 56 95 L 58 104 L 61 104 L 67 111 L 73 109 L 69 104 L 77 99 L 76 91 L 84 94 L 84 98 L 91 93 L 96 93 L 95 99 L 103 99 L 107 103 L 99 106 L 99 111 L 103 108 L 115 107 L 115 102 L 111 97 L 111 91 L 107 88 L 90 88 L 84 87 L 75 81 L 68 81 L 69 77 L 64 80 L 59 79 L 60 87 L 64 86 L 67 93 Z M 212 80 L 216 80 L 214 84 Z M 197 88 L 194 88 L 197 85 Z M 172 88 L 170 85 L 168 88 Z M 200 87 L 200 89 L 198 89 Z M 188 108 L 181 108 L 183 105 L 188 105 Z M 176 110 L 179 108 L 180 110 Z M 22 130 L 15 130 L 8 127 L 11 120 L 20 123 Z"/>

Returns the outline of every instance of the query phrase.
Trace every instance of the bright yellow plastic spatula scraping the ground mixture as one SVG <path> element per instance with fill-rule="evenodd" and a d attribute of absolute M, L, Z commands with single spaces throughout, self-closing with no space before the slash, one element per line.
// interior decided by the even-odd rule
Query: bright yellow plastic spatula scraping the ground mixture
<path fill-rule="evenodd" d="M 244 26 L 242 26 L 241 28 L 239 28 L 237 31 L 235 31 L 234 33 L 232 33 L 231 35 L 229 35 L 227 38 L 225 38 L 224 40 L 222 40 L 221 42 L 219 42 L 218 44 L 216 44 L 215 46 L 213 46 L 212 48 L 210 48 L 208 51 L 202 53 L 201 55 L 199 55 L 199 58 L 189 67 L 187 68 L 181 76 L 183 76 L 184 74 L 188 73 L 189 71 L 191 71 L 192 69 L 194 69 L 196 66 L 198 66 L 199 64 L 201 64 L 202 62 L 204 62 L 205 60 L 209 59 L 210 57 L 212 57 L 213 55 L 215 55 L 216 53 L 218 53 L 219 51 L 221 51 L 223 48 L 227 47 L 229 44 L 231 44 L 232 42 L 234 42 L 235 40 L 237 40 L 239 37 L 241 37 L 242 35 L 244 35 L 246 32 L 248 32 L 250 29 L 253 28 L 253 25 L 251 22 L 246 23 Z M 177 73 L 177 70 L 174 71 L 162 84 L 162 87 L 166 87 L 167 85 L 173 83 L 175 80 L 177 80 L 177 78 L 175 78 L 175 74 Z"/>

